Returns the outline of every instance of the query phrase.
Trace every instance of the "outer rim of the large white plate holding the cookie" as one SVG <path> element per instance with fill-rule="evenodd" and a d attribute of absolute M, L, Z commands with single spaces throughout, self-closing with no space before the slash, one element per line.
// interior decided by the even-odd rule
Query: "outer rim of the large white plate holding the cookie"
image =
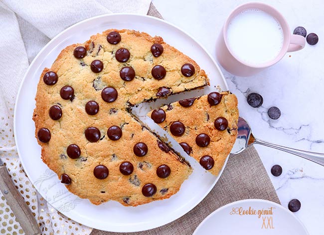
<path fill-rule="evenodd" d="M 33 67 L 33 65 L 36 63 L 38 57 L 42 54 L 42 52 L 53 42 L 55 41 L 57 38 L 59 38 L 62 34 L 66 33 L 67 31 L 69 31 L 71 28 L 73 27 L 76 27 L 80 24 L 83 24 L 83 23 L 86 23 L 88 21 L 91 21 L 91 20 L 94 20 L 94 19 L 98 19 L 98 18 L 102 18 L 102 17 L 110 17 L 110 16 L 114 16 L 114 15 L 125 15 L 125 16 L 128 16 L 128 15 L 133 15 L 133 16 L 139 16 L 139 17 L 147 17 L 147 18 L 151 18 L 151 19 L 154 19 L 154 20 L 157 20 L 157 21 L 160 21 L 164 24 L 167 24 L 173 28 L 175 28 L 176 30 L 178 31 L 181 31 L 182 33 L 186 34 L 188 37 L 190 37 L 197 45 L 200 46 L 200 48 L 206 53 L 206 55 L 209 57 L 209 59 L 214 63 L 215 67 L 217 68 L 218 72 L 219 72 L 219 76 L 222 78 L 223 80 L 223 85 L 225 85 L 225 87 L 228 89 L 228 85 L 226 83 L 226 80 L 223 76 L 223 74 L 221 73 L 221 70 L 219 68 L 219 66 L 217 65 L 217 63 L 215 62 L 215 60 L 212 58 L 212 56 L 210 55 L 210 53 L 208 53 L 206 51 L 206 49 L 199 43 L 197 42 L 192 36 L 190 36 L 189 34 L 187 34 L 186 32 L 184 32 L 183 30 L 181 30 L 180 28 L 178 28 L 177 26 L 171 24 L 171 23 L 168 23 L 162 19 L 159 19 L 159 18 L 156 18 L 156 17 L 153 17 L 153 16 L 148 16 L 148 15 L 141 15 L 141 14 L 131 14 L 131 13 L 114 13 L 114 14 L 104 14 L 104 15 L 100 15 L 100 16 L 95 16 L 95 17 L 92 17 L 92 18 L 89 18 L 89 19 L 86 19 L 86 20 L 83 20 L 83 21 L 80 21 L 72 26 L 70 26 L 69 28 L 65 29 L 64 31 L 62 31 L 61 33 L 59 33 L 58 35 L 56 35 L 50 42 L 48 42 L 44 48 L 42 48 L 40 50 L 40 52 L 37 54 L 37 56 L 34 58 L 34 60 L 31 62 L 31 64 L 29 65 L 21 83 L 20 83 L 20 86 L 19 86 L 19 89 L 18 89 L 18 93 L 17 93 L 17 96 L 16 96 L 16 101 L 15 101 L 15 107 L 14 107 L 14 123 L 13 123 L 13 128 L 14 128 L 14 138 L 15 138 L 15 143 L 16 143 L 16 149 L 17 149 L 17 152 L 18 152 L 18 155 L 19 155 L 19 158 L 20 158 L 20 161 L 21 161 L 21 164 L 22 164 L 22 167 L 24 168 L 26 174 L 28 175 L 28 178 L 29 180 L 31 181 L 32 184 L 34 184 L 34 179 L 30 178 L 29 177 L 29 173 L 28 173 L 28 170 L 26 169 L 25 167 L 25 163 L 24 163 L 24 159 L 21 156 L 20 154 L 20 149 L 19 149 L 19 145 L 18 145 L 18 141 L 17 141 L 17 133 L 16 133 L 16 122 L 17 122 L 17 102 L 19 100 L 19 96 L 20 96 L 20 91 L 22 89 L 22 86 L 24 84 L 24 81 L 27 77 L 27 74 L 29 73 L 30 69 Z M 32 136 L 32 138 L 34 138 Z M 214 187 L 214 185 L 216 184 L 216 182 L 218 181 L 221 173 L 223 172 L 224 170 L 224 167 L 226 165 L 226 162 L 228 160 L 228 157 L 226 158 L 225 162 L 224 162 L 224 165 L 223 165 L 223 168 L 221 169 L 219 175 L 215 178 L 215 181 L 214 183 L 210 186 L 210 188 L 208 190 L 206 190 L 206 192 L 203 194 L 203 196 L 200 198 L 199 201 L 197 201 L 196 203 L 193 203 L 190 207 L 187 207 L 185 208 L 185 210 L 181 211 L 180 213 L 177 213 L 177 214 L 170 214 L 169 217 L 166 219 L 166 220 L 163 220 L 162 222 L 159 222 L 157 221 L 155 224 L 151 224 L 149 226 L 146 226 L 146 227 L 140 227 L 140 226 L 135 226 L 135 227 L 124 227 L 123 230 L 120 230 L 120 229 L 116 229 L 116 228 L 107 228 L 107 226 L 105 225 L 93 225 L 93 224 L 89 224 L 89 222 L 87 221 L 86 217 L 82 216 L 82 215 L 79 215 L 78 217 L 76 216 L 76 214 L 73 214 L 73 213 L 69 213 L 69 212 L 61 212 L 62 214 L 64 214 L 65 216 L 71 218 L 72 220 L 75 220 L 76 222 L 78 223 L 81 223 L 83 225 L 86 225 L 86 226 L 89 226 L 89 227 L 92 227 L 92 228 L 96 228 L 96 229 L 100 229 L 100 230 L 105 230 L 105 231 L 111 231 L 111 232 L 138 232 L 138 231 L 144 231 L 144 230 L 149 230 L 149 229 L 154 229 L 154 228 L 157 228 L 157 227 L 160 227 L 160 226 L 163 226 L 165 224 L 168 224 L 178 218 L 180 218 L 181 216 L 183 216 L 184 214 L 186 214 L 187 212 L 189 212 L 191 209 L 193 209 L 197 204 L 199 204 L 205 197 L 206 195 L 211 191 L 211 189 Z M 38 191 L 38 189 L 36 188 L 36 190 Z M 42 196 L 42 192 L 38 191 Z M 54 207 L 55 208 L 55 207 Z M 57 208 L 56 208 L 57 209 Z M 120 228 L 120 227 L 119 227 Z"/>

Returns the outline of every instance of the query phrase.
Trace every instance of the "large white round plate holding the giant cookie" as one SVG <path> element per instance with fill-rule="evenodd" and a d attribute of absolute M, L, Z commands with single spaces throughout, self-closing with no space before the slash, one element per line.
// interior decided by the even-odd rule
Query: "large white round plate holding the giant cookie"
<path fill-rule="evenodd" d="M 66 46 L 84 42 L 91 35 L 110 28 L 135 29 L 152 36 L 162 36 L 164 41 L 184 54 L 193 58 L 210 78 L 211 86 L 204 89 L 185 92 L 158 100 L 156 104 L 144 104 L 137 110 L 145 119 L 145 112 L 152 106 L 168 101 L 202 95 L 215 90 L 217 85 L 226 90 L 227 84 L 212 57 L 192 37 L 179 28 L 155 17 L 136 14 L 101 15 L 79 22 L 53 38 L 30 64 L 20 85 L 14 110 L 14 136 L 22 166 L 37 191 L 58 211 L 83 225 L 111 232 L 135 232 L 153 229 L 170 223 L 194 208 L 212 189 L 219 177 L 202 170 L 191 157 L 194 172 L 182 184 L 178 193 L 171 198 L 152 202 L 138 207 L 124 207 L 110 201 L 99 206 L 87 199 L 71 194 L 59 182 L 57 175 L 49 170 L 40 158 L 41 148 L 34 138 L 35 126 L 32 121 L 35 107 L 36 86 L 42 70 L 50 68 L 57 55 Z M 159 130 L 154 123 L 147 121 L 153 129 Z M 183 150 L 171 141 L 174 149 Z"/>

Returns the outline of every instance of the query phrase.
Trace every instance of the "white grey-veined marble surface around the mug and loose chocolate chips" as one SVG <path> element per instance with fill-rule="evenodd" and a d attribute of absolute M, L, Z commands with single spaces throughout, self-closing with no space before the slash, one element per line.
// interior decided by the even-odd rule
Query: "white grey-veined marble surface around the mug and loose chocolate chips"
<path fill-rule="evenodd" d="M 316 46 L 288 53 L 282 61 L 248 78 L 235 77 L 222 69 L 229 87 L 238 96 L 240 115 L 255 136 L 273 143 L 324 153 L 324 15 L 322 0 L 268 0 L 287 19 L 291 30 L 304 26 L 315 32 Z M 215 41 L 226 17 L 246 0 L 153 0 L 165 20 L 197 39 L 215 58 Z M 323 40 L 322 40 L 323 39 Z M 291 57 L 290 57 L 291 56 Z M 260 108 L 246 102 L 248 92 L 264 98 Z M 277 106 L 282 116 L 271 120 L 267 109 Z M 257 146 L 264 166 L 283 206 L 297 198 L 302 203 L 295 215 L 310 235 L 324 232 L 324 167 L 267 147 Z M 283 174 L 274 177 L 272 165 L 280 164 Z"/>

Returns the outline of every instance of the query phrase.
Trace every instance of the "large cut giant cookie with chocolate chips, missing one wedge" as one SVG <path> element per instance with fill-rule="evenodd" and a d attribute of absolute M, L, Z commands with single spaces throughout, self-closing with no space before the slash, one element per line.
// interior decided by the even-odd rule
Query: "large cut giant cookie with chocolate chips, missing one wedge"
<path fill-rule="evenodd" d="M 190 166 L 133 118 L 141 102 L 208 85 L 161 37 L 110 29 L 61 51 L 37 86 L 42 160 L 92 203 L 137 206 L 175 194 Z"/>

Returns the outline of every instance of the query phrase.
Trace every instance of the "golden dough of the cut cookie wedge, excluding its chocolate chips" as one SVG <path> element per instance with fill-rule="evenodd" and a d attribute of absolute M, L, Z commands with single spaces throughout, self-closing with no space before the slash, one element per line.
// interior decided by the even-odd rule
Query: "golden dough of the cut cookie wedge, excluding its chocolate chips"
<path fill-rule="evenodd" d="M 239 116 L 236 96 L 228 91 L 221 94 L 223 95 L 221 102 L 215 106 L 208 103 L 207 95 L 195 99 L 190 107 L 182 107 L 178 102 L 164 105 L 161 108 L 166 114 L 165 121 L 159 124 L 178 143 L 187 143 L 192 148 L 190 156 L 198 162 L 202 156 L 211 156 L 215 164 L 208 171 L 214 175 L 218 175 L 234 145 Z M 148 115 L 151 117 L 151 114 L 152 111 Z M 214 121 L 218 117 L 227 119 L 227 130 L 216 130 Z M 170 133 L 170 125 L 174 121 L 184 124 L 185 132 L 182 136 L 173 136 Z M 200 133 L 210 137 L 210 144 L 207 147 L 197 146 L 195 139 Z"/>

